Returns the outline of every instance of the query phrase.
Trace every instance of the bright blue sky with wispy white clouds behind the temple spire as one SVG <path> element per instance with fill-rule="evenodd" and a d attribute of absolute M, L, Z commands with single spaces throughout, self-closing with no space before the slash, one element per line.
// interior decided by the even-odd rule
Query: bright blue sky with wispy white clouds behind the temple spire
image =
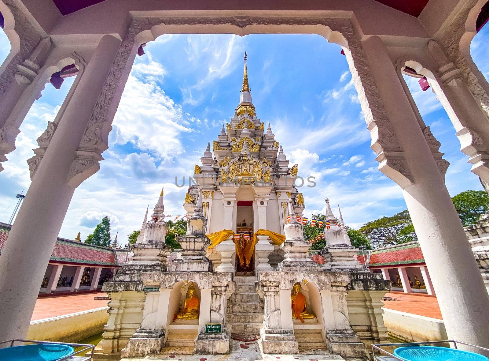
<path fill-rule="evenodd" d="M 484 41 L 489 27 L 472 42 L 472 56 L 487 77 Z M 8 53 L 0 32 L 0 61 Z M 111 217 L 112 232 L 122 243 L 141 226 L 146 206 L 165 186 L 165 214 L 184 213 L 187 186 L 175 177 L 193 174 L 207 142 L 217 139 L 233 116 L 243 79 L 243 54 L 257 116 L 270 122 L 299 175 L 314 176 L 316 187 L 303 187 L 305 215 L 324 211 L 324 198 L 340 204 L 354 227 L 406 209 L 400 188 L 381 174 L 370 149 L 370 134 L 340 47 L 318 35 L 168 35 L 136 57 L 104 152 L 100 171 L 75 191 L 60 237 L 85 239 L 100 219 Z M 406 78 L 423 120 L 442 143 L 451 165 L 446 186 L 451 195 L 482 189 L 460 152 L 455 130 L 436 96 L 422 92 L 417 79 Z M 73 78 L 60 90 L 46 84 L 21 126 L 17 149 L 0 173 L 0 221 L 7 222 L 15 194 L 27 191 L 26 159 L 36 138 L 54 119 Z M 181 183 L 181 181 L 180 181 Z M 333 207 L 335 208 L 335 207 Z"/>

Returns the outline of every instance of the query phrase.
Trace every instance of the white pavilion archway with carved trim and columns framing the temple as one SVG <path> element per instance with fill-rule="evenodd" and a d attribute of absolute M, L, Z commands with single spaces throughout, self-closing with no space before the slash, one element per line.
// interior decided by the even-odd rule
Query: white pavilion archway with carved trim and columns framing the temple
<path fill-rule="evenodd" d="M 0 339 L 26 335 L 71 197 L 108 148 L 138 48 L 169 33 L 299 33 L 322 35 L 347 57 L 378 168 L 403 190 L 448 336 L 489 344 L 489 295 L 444 184 L 448 163 L 401 75 L 408 66 L 428 78 L 472 171 L 489 182 L 489 84 L 469 54 L 485 2 L 0 0 L 11 42 L 0 68 L 0 162 L 51 74 L 78 68 L 28 160 L 32 184 L 2 250 Z"/>

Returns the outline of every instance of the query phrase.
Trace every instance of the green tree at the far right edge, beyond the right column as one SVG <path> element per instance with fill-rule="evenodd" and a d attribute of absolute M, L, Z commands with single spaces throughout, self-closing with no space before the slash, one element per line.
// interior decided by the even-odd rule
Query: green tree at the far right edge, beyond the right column
<path fill-rule="evenodd" d="M 462 224 L 469 226 L 487 212 L 489 195 L 485 191 L 465 191 L 452 197 L 452 201 Z"/>

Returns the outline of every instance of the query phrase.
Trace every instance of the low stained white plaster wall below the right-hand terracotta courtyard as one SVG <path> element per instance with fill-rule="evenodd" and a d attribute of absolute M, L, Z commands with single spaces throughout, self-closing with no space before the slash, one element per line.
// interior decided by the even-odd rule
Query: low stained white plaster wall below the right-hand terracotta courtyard
<path fill-rule="evenodd" d="M 442 320 L 396 310 L 384 310 L 384 325 L 394 336 L 408 341 L 439 341 L 447 339 Z"/>

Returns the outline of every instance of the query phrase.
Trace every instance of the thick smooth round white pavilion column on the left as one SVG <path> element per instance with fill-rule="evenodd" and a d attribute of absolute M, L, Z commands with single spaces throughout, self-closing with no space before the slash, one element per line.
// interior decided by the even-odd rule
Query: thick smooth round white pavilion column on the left
<path fill-rule="evenodd" d="M 105 35 L 80 78 L 37 168 L 0 257 L 0 339 L 25 338 L 44 270 L 78 184 L 72 163 L 120 40 Z M 87 177 L 90 174 L 87 174 Z"/>

